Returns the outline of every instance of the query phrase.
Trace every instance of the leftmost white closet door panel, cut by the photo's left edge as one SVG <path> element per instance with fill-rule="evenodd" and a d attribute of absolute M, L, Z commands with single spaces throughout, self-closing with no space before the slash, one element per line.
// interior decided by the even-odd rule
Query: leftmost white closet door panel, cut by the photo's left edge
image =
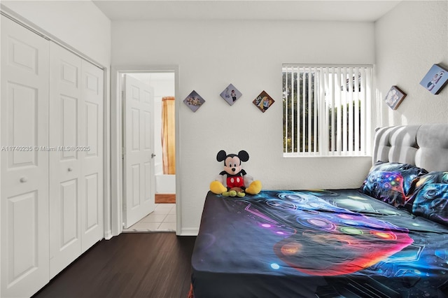
<path fill-rule="evenodd" d="M 3 16 L 0 110 L 0 297 L 29 297 L 49 280 L 48 41 Z"/>

